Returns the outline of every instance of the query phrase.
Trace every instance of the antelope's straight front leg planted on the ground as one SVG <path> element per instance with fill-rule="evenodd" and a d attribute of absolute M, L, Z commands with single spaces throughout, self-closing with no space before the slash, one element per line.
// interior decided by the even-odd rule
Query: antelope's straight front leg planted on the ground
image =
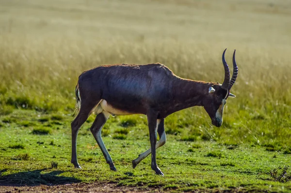
<path fill-rule="evenodd" d="M 156 143 L 157 143 L 157 113 L 150 111 L 147 113 L 147 123 L 149 129 L 149 140 L 150 140 L 150 147 L 151 147 L 151 168 L 156 172 L 158 175 L 162 175 L 163 173 L 157 165 L 156 161 Z"/>

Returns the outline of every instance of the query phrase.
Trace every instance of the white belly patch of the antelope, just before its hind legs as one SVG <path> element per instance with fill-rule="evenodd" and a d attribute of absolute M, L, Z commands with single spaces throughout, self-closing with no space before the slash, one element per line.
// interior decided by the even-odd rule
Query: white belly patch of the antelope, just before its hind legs
<path fill-rule="evenodd" d="M 97 115 L 97 114 L 101 113 L 103 110 L 110 113 L 112 116 L 134 114 L 134 113 L 129 113 L 127 111 L 120 110 L 120 109 L 116 109 L 111 104 L 107 103 L 107 101 L 105 101 L 104 99 L 102 99 L 99 102 L 99 104 L 97 104 L 97 106 L 93 110 L 93 113 Z"/>

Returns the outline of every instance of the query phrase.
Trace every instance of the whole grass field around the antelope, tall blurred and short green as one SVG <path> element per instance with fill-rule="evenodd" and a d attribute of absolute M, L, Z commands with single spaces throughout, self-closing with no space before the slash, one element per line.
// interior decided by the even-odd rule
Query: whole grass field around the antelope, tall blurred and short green
<path fill-rule="evenodd" d="M 110 182 L 162 191 L 291 191 L 289 0 L 0 0 L 0 185 Z M 154 175 L 146 117 L 111 117 L 102 131 L 117 172 L 90 132 L 70 163 L 78 76 L 102 64 L 160 62 L 222 82 L 237 50 L 238 79 L 224 123 L 201 107 L 165 119 Z M 286 171 L 284 173 L 284 171 Z M 3 189 L 4 190 L 4 189 Z M 1 190 L 0 190 L 1 192 Z"/>

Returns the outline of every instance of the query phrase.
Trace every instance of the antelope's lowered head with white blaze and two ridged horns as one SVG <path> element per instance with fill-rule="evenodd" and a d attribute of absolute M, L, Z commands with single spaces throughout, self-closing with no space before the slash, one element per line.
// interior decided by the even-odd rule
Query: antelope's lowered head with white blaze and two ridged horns
<path fill-rule="evenodd" d="M 222 84 L 210 83 L 208 89 L 206 90 L 206 97 L 203 100 L 203 107 L 210 116 L 211 123 L 216 127 L 220 127 L 222 125 L 223 109 L 226 104 L 226 99 L 228 97 L 235 97 L 234 94 L 230 93 L 230 89 L 238 76 L 238 67 L 235 61 L 235 50 L 232 57 L 233 74 L 231 79 L 229 68 L 225 59 L 225 52 L 226 49 L 222 54 L 222 63 L 225 70 L 224 81 Z"/>

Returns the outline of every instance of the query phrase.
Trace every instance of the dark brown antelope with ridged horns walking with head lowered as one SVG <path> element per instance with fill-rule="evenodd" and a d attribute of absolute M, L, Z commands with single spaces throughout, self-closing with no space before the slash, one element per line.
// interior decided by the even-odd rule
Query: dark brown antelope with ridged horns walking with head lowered
<path fill-rule="evenodd" d="M 151 153 L 151 169 L 163 175 L 156 162 L 156 149 L 166 143 L 164 119 L 168 115 L 188 107 L 203 106 L 211 123 L 216 127 L 222 125 L 226 99 L 235 97 L 229 91 L 238 75 L 235 50 L 231 79 L 225 52 L 226 49 L 222 54 L 225 71 L 222 84 L 181 78 L 160 63 L 103 65 L 83 72 L 75 89 L 77 116 L 71 123 L 71 163 L 81 168 L 77 160 L 77 135 L 81 125 L 94 113 L 97 116 L 90 130 L 110 169 L 116 171 L 103 143 L 101 129 L 110 115 L 144 114 L 147 117 L 151 148 L 133 160 L 132 167 L 135 168 Z M 157 133 L 160 137 L 158 142 Z"/>

